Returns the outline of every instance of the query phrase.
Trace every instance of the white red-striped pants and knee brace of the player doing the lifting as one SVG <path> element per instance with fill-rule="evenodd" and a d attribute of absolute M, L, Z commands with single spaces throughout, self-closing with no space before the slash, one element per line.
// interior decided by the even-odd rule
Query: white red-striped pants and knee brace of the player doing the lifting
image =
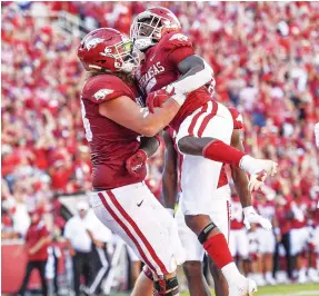
<path fill-rule="evenodd" d="M 150 268 L 158 295 L 178 295 L 176 268 L 183 260 L 183 250 L 175 243 L 179 238 L 172 228 L 173 218 L 147 186 L 134 184 L 94 193 L 91 204 L 97 217 Z"/>

